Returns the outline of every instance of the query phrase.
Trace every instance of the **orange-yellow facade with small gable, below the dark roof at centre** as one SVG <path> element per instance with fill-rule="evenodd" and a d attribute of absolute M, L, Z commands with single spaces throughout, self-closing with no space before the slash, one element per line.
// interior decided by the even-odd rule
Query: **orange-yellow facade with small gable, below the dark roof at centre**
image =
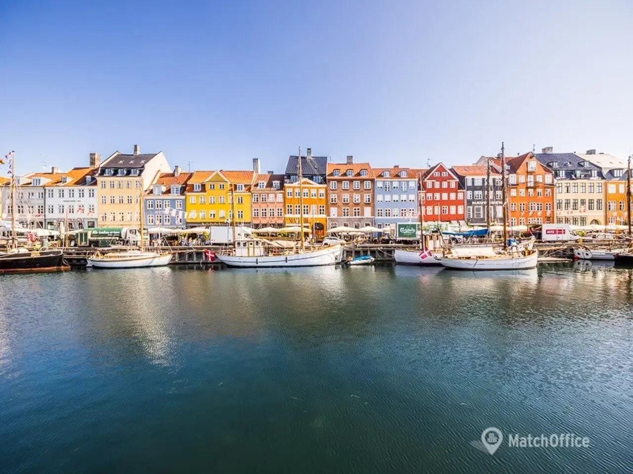
<path fill-rule="evenodd" d="M 303 225 L 310 226 L 313 235 L 321 239 L 325 235 L 327 224 L 326 185 L 318 185 L 308 178 L 301 183 L 285 183 L 285 216 L 286 226 L 298 226 L 301 220 L 301 188 L 303 188 Z"/>

